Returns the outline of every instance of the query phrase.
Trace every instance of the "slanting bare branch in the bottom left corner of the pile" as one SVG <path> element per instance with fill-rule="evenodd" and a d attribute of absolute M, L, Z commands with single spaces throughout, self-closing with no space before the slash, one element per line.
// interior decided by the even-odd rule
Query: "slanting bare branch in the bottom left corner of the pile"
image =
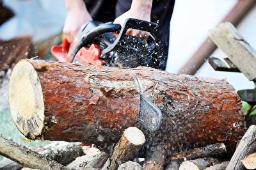
<path fill-rule="evenodd" d="M 68 169 L 67 167 L 50 160 L 25 146 L 17 144 L 0 135 L 0 155 L 10 158 L 24 167 L 34 169 Z"/>

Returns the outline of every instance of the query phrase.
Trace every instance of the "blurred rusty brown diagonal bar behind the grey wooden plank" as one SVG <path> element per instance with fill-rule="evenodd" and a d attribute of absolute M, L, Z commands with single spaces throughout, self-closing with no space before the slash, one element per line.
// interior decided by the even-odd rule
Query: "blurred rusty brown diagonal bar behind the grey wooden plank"
<path fill-rule="evenodd" d="M 248 12 L 250 12 L 255 4 L 255 0 L 239 0 L 230 13 L 228 13 L 221 22 L 228 21 L 234 26 L 237 26 L 237 24 Z M 179 74 L 194 75 L 216 48 L 217 46 L 212 42 L 211 38 L 208 37 L 189 61 L 179 70 Z"/>

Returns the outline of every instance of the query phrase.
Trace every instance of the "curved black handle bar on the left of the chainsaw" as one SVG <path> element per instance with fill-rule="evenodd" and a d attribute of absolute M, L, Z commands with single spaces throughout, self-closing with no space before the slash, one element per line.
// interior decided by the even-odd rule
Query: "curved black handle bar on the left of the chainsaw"
<path fill-rule="evenodd" d="M 104 33 L 120 31 L 121 28 L 122 27 L 120 26 L 120 24 L 112 24 L 109 22 L 106 24 L 102 24 L 98 27 L 95 27 L 94 29 L 89 31 L 86 35 L 84 35 L 81 38 L 81 40 L 79 40 L 79 42 L 77 43 L 76 47 L 72 52 L 72 56 L 70 57 L 69 62 L 72 63 L 74 61 L 74 58 L 77 52 L 85 45 L 92 43 L 93 39 L 96 38 L 97 36 L 102 35 Z"/>

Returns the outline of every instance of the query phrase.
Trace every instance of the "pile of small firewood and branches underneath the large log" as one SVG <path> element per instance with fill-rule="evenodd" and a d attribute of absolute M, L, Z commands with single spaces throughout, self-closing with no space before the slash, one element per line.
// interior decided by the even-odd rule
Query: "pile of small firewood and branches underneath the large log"
<path fill-rule="evenodd" d="M 83 143 L 52 143 L 26 148 L 0 136 L 1 155 L 11 160 L 0 161 L 1 169 L 255 169 L 256 126 L 244 134 L 231 160 L 223 143 L 182 151 L 168 156 L 168 146 L 154 147 L 146 158 L 138 157 L 145 136 L 138 128 L 127 128 L 113 153 L 100 151 Z M 3 145 L 4 144 L 4 148 Z M 142 147 L 143 148 L 143 147 Z M 11 154 L 11 152 L 13 154 Z M 139 154 L 138 154 L 139 153 Z M 12 161 L 14 160 L 14 161 Z M 18 164 L 18 163 L 19 164 Z M 23 168 L 26 169 L 26 168 Z"/>

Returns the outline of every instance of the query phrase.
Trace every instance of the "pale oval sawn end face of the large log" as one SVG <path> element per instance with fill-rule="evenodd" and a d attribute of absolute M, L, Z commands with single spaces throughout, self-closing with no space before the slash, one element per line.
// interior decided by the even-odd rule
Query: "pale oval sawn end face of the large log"
<path fill-rule="evenodd" d="M 35 139 L 44 128 L 44 95 L 36 70 L 29 61 L 13 69 L 9 85 L 9 104 L 13 121 L 28 139 Z"/>

